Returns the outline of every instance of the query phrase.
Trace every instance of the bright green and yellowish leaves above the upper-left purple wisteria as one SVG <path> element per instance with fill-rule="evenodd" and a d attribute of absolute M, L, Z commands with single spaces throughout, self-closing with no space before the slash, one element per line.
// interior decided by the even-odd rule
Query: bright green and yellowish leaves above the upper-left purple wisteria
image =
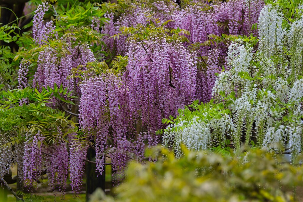
<path fill-rule="evenodd" d="M 48 38 L 47 44 L 40 46 L 32 43 L 33 38 L 30 32 L 25 33 L 19 42 L 21 48 L 16 54 L 15 60 L 24 58 L 25 61 L 35 64 L 39 52 L 45 48 L 53 48 L 56 50 L 55 54 L 60 58 L 62 55 L 70 54 L 66 50 L 66 47 L 71 45 L 68 42 L 72 42 L 72 45 L 89 44 L 96 58 L 102 59 L 100 58 L 102 35 L 91 28 L 93 18 L 96 18 L 101 26 L 107 20 L 103 17 L 105 11 L 101 7 L 90 2 L 84 4 L 82 2 L 59 1 L 57 5 L 53 5 L 49 9 L 49 12 L 56 17 L 55 19 L 51 17 L 55 23 L 54 35 Z M 58 38 L 55 37 L 55 33 Z M 32 68 L 34 69 L 35 66 L 33 65 Z"/>

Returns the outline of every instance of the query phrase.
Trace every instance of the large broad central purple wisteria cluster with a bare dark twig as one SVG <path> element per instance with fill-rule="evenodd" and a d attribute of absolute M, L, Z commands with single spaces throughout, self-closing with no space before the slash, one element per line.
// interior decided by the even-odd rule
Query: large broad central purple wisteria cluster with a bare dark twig
<path fill-rule="evenodd" d="M 142 117 L 148 128 L 160 128 L 161 119 L 194 100 L 196 65 L 181 42 L 165 38 L 132 42 L 125 81 L 133 119 Z"/>

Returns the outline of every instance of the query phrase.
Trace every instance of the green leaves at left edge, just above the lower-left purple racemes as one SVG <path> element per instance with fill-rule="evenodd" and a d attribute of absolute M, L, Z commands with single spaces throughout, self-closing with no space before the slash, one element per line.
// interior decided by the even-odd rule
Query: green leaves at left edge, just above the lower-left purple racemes
<path fill-rule="evenodd" d="M 74 98 L 70 96 L 71 93 L 67 92 L 67 88 L 63 89 L 62 86 L 57 88 L 56 85 L 54 89 L 43 88 L 41 92 L 32 88 L 2 91 L 0 93 L 1 132 L 8 134 L 12 140 L 7 144 L 13 145 L 24 141 L 24 134 L 38 131 L 46 137 L 44 144 L 56 144 L 58 128 L 63 132 L 63 138 L 69 133 L 77 132 L 77 126 L 65 112 L 49 107 L 51 99 L 73 104 L 72 101 L 65 99 Z M 19 105 L 19 101 L 24 99 L 28 103 Z"/>

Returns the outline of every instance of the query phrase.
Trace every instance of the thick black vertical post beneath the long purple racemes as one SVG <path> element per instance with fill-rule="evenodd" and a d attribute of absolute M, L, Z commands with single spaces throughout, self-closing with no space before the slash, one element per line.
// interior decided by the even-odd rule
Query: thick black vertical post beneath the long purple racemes
<path fill-rule="evenodd" d="M 92 148 L 88 148 L 87 160 L 96 160 L 96 151 Z M 105 191 L 105 167 L 102 175 L 96 172 L 96 165 L 86 162 L 86 201 L 89 200 L 90 195 L 98 188 L 102 188 Z"/>

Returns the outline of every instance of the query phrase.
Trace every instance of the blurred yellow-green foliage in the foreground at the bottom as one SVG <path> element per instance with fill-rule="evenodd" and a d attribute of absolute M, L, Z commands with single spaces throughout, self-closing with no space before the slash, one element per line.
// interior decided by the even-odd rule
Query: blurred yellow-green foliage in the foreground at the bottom
<path fill-rule="evenodd" d="M 289 164 L 280 154 L 251 149 L 222 156 L 183 150 L 181 158 L 160 147 L 149 151 L 159 154 L 158 161 L 129 164 L 115 199 L 97 190 L 91 202 L 298 201 L 294 187 L 302 186 L 302 166 Z"/>

